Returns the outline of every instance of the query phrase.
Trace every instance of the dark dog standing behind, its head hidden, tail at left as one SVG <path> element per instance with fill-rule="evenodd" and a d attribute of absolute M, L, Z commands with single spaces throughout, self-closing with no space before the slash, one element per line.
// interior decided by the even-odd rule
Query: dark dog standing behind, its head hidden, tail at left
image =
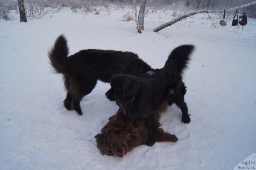
<path fill-rule="evenodd" d="M 68 57 L 67 40 L 60 36 L 48 52 L 52 66 L 63 74 L 67 96 L 64 106 L 82 115 L 80 101 L 92 92 L 97 80 L 110 82 L 113 74 L 140 76 L 151 67 L 137 54 L 114 50 L 81 50 Z"/>

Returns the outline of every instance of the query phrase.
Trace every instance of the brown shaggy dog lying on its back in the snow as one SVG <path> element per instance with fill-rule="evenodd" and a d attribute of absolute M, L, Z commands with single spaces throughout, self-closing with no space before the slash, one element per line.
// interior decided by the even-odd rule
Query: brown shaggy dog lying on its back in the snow
<path fill-rule="evenodd" d="M 156 115 L 157 120 L 160 119 L 159 112 L 163 112 L 167 108 L 165 102 Z M 101 134 L 95 136 L 97 147 L 100 153 L 108 156 L 123 157 L 133 148 L 146 144 L 148 130 L 142 118 L 131 120 L 124 115 L 119 108 L 118 112 L 109 118 L 109 122 L 102 128 Z M 156 142 L 177 142 L 175 135 L 164 132 L 162 128 L 158 128 L 156 132 Z"/>

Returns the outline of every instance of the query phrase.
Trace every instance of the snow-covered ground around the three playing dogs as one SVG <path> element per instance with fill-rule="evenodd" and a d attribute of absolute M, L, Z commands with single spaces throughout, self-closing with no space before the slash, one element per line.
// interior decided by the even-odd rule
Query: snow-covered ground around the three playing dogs
<path fill-rule="evenodd" d="M 0 170 L 228 170 L 256 153 L 256 20 L 240 26 L 218 24 L 221 16 L 197 14 L 152 32 L 173 19 L 172 11 L 149 11 L 145 30 L 123 21 L 132 9 L 100 15 L 62 10 L 20 23 L 0 20 Z M 176 143 L 140 146 L 123 158 L 103 156 L 94 136 L 118 107 L 98 82 L 81 102 L 83 116 L 64 108 L 62 75 L 47 52 L 64 34 L 70 54 L 87 48 L 137 53 L 153 68 L 181 44 L 194 44 L 184 75 L 190 124 L 170 106 L 162 127 Z"/>

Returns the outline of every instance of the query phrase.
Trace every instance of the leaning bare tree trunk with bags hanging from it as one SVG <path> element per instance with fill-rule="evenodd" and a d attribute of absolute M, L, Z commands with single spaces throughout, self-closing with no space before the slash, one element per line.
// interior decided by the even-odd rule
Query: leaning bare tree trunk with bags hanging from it
<path fill-rule="evenodd" d="M 248 4 L 245 4 L 245 5 L 241 5 L 241 6 L 237 6 L 237 7 L 234 7 L 234 8 L 230 8 L 230 9 L 227 9 L 226 12 L 230 12 L 230 11 L 234 11 L 234 10 L 237 10 L 237 9 L 240 9 L 240 8 L 244 8 L 244 7 L 247 7 L 247 6 L 251 6 L 253 4 L 256 4 L 256 1 L 253 1 L 253 2 L 250 2 Z M 189 16 L 192 16 L 194 14 L 199 14 L 199 13 L 221 13 L 223 12 L 224 10 L 199 10 L 199 11 L 195 11 L 195 12 L 191 12 L 190 14 L 186 14 L 186 15 L 183 15 L 183 16 L 180 16 L 178 18 L 175 18 L 173 20 L 171 20 L 170 22 L 166 22 L 156 28 L 154 28 L 153 32 L 158 32 L 168 26 L 171 26 L 172 24 L 184 19 L 184 18 L 187 18 Z"/>

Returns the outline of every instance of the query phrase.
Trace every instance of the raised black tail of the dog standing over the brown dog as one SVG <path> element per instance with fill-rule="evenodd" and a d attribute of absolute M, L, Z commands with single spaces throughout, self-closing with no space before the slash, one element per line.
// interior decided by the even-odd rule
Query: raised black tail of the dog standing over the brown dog
<path fill-rule="evenodd" d="M 193 45 L 182 45 L 172 50 L 169 55 L 164 68 L 168 68 L 171 65 L 175 65 L 178 68 L 180 74 L 187 67 L 188 61 L 190 60 L 190 54 L 194 50 Z"/>

